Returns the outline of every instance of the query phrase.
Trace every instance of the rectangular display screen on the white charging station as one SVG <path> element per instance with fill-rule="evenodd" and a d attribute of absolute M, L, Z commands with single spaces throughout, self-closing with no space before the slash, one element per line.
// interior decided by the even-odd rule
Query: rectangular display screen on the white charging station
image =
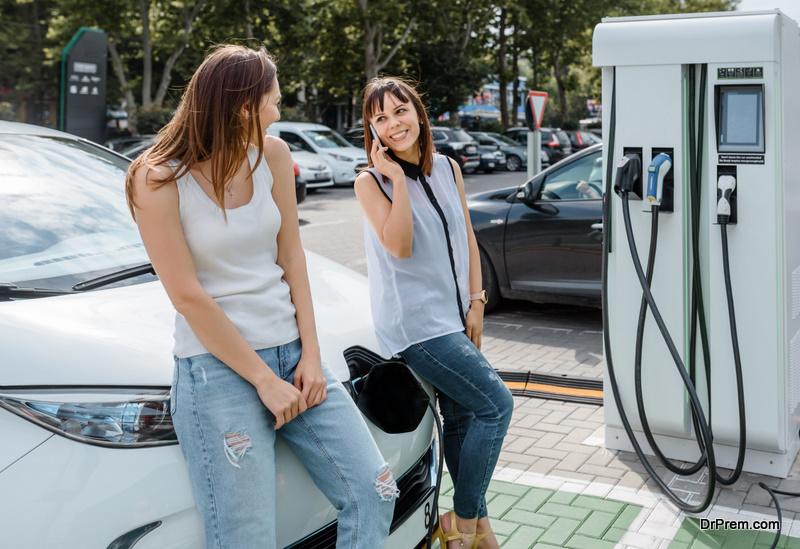
<path fill-rule="evenodd" d="M 764 152 L 764 89 L 725 86 L 719 90 L 719 152 Z"/>

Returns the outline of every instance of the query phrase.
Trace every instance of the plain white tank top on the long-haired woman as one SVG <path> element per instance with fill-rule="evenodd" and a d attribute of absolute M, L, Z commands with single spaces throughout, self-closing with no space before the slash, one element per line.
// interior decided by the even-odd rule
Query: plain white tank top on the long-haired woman
<path fill-rule="evenodd" d="M 259 151 L 250 147 L 253 166 Z M 295 309 L 283 269 L 276 263 L 281 214 L 272 198 L 272 172 L 262 158 L 253 173 L 253 198 L 222 210 L 190 173 L 178 179 L 183 234 L 203 289 L 214 298 L 253 349 L 265 349 L 299 337 Z M 179 358 L 207 353 L 186 319 L 175 317 Z"/>

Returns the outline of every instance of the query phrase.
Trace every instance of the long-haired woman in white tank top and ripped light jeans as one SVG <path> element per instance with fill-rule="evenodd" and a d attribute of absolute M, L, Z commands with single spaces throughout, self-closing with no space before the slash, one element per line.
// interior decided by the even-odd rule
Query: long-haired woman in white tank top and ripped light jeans
<path fill-rule="evenodd" d="M 383 547 L 397 488 L 320 361 L 289 149 L 265 50 L 215 48 L 126 193 L 176 309 L 171 412 L 207 547 L 276 546 L 278 430 L 338 514 Z"/>

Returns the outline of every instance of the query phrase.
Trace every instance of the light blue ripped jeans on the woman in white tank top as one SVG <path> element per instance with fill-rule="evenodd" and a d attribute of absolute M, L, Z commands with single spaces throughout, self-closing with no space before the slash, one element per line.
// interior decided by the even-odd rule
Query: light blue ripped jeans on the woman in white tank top
<path fill-rule="evenodd" d="M 291 383 L 300 351 L 298 339 L 258 355 Z M 323 369 L 327 398 L 275 431 L 255 388 L 216 357 L 176 358 L 172 417 L 206 547 L 276 546 L 276 433 L 338 509 L 336 547 L 384 546 L 396 485 L 377 482 L 386 473 L 380 450 L 344 387 Z"/>

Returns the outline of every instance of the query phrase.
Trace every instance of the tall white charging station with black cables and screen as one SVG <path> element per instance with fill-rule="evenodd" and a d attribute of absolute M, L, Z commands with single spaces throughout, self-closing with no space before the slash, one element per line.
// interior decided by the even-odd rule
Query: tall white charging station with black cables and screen
<path fill-rule="evenodd" d="M 653 454 L 649 430 L 667 458 L 734 469 L 743 457 L 745 471 L 786 477 L 800 449 L 797 23 L 778 10 L 606 18 L 595 29 L 593 49 L 603 71 L 608 179 L 606 447 L 633 448 L 616 394 L 645 453 Z M 654 197 L 650 181 L 663 187 L 663 197 Z M 615 183 L 622 192 L 614 192 Z M 647 261 L 656 226 L 657 246 Z M 652 298 L 680 361 L 652 306 L 643 305 L 628 230 L 642 270 L 651 263 Z M 746 436 L 734 367 L 737 334 Z M 699 414 L 692 413 L 678 368 L 691 378 Z M 710 429 L 710 451 L 698 443 L 699 421 Z"/>

